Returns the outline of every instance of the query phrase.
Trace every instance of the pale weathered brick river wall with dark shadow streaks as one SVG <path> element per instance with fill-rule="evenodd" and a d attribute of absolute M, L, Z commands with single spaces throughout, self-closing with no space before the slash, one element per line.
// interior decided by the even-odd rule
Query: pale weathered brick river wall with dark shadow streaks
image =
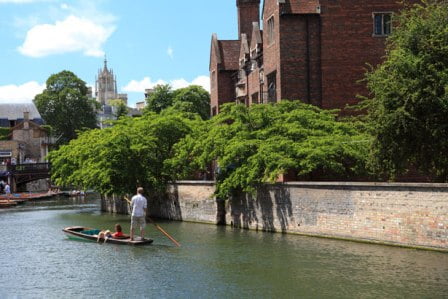
<path fill-rule="evenodd" d="M 180 181 L 150 200 L 153 217 L 448 252 L 448 184 L 290 182 L 257 196 L 213 198 L 214 182 Z M 128 213 L 120 198 L 102 210 Z"/>

